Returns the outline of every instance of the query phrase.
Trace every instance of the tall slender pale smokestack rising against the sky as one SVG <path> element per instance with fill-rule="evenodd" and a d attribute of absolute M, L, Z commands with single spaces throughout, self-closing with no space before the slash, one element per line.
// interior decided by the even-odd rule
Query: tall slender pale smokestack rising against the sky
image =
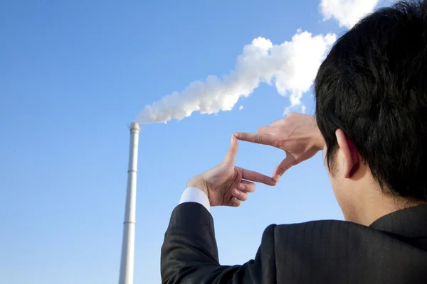
<path fill-rule="evenodd" d="M 127 193 L 125 222 L 123 223 L 122 259 L 120 261 L 119 284 L 133 284 L 135 254 L 135 209 L 137 200 L 139 124 L 130 125 L 130 153 L 127 169 Z"/>

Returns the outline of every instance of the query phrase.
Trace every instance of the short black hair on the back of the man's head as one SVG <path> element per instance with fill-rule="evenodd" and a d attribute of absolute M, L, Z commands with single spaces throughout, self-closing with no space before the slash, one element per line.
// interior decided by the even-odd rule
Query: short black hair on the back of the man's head
<path fill-rule="evenodd" d="M 332 173 L 342 129 L 384 192 L 427 201 L 427 0 L 380 9 L 339 38 L 315 94 Z"/>

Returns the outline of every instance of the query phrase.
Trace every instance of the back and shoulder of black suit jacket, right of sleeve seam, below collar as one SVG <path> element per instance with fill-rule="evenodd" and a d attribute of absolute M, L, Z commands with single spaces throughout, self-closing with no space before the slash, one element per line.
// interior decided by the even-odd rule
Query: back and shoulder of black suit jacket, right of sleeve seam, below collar
<path fill-rule="evenodd" d="M 275 227 L 279 283 L 427 283 L 427 252 L 411 241 L 344 221 Z"/>

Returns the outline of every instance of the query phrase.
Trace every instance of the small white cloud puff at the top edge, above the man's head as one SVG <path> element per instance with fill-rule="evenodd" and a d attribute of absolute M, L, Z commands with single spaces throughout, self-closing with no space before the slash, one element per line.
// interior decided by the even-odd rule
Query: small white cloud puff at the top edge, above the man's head
<path fill-rule="evenodd" d="M 323 20 L 335 18 L 339 26 L 352 28 L 367 14 L 372 13 L 379 0 L 322 0 L 320 12 Z"/>

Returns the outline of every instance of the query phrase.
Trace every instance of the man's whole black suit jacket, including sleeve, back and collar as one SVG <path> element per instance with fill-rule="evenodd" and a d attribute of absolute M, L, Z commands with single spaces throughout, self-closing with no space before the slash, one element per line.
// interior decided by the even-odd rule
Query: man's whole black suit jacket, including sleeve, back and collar
<path fill-rule="evenodd" d="M 270 225 L 255 258 L 221 266 L 214 220 L 201 204 L 172 212 L 161 257 L 162 283 L 427 283 L 427 205 L 371 226 L 316 221 Z"/>

